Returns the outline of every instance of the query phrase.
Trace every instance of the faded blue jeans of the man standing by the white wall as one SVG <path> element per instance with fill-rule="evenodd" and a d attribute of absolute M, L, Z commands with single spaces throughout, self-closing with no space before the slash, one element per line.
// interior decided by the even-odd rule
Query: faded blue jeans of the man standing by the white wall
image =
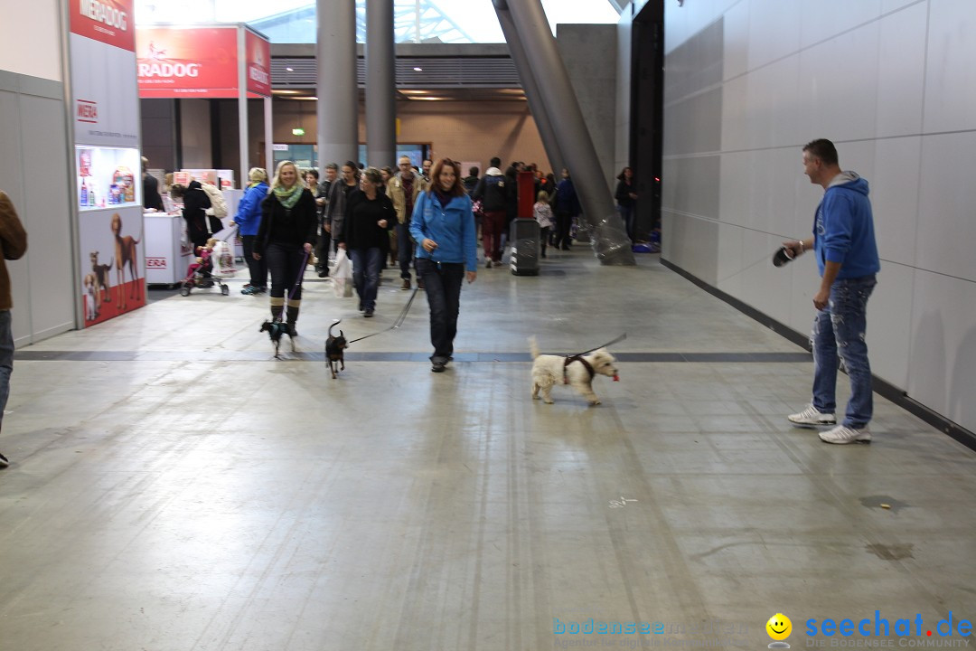
<path fill-rule="evenodd" d="M 827 309 L 817 312 L 813 320 L 813 406 L 826 414 L 836 411 L 839 354 L 851 383 L 843 426 L 855 429 L 871 422 L 874 409 L 871 363 L 864 338 L 868 298 L 875 284 L 874 275 L 834 281 Z"/>

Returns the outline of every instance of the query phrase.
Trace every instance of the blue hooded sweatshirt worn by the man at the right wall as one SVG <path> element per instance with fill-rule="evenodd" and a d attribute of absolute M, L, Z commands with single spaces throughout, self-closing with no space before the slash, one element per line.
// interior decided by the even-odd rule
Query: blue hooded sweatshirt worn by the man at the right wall
<path fill-rule="evenodd" d="M 824 275 L 827 261 L 841 265 L 838 279 L 870 276 L 880 270 L 867 181 L 853 172 L 837 175 L 817 206 L 813 237 L 820 275 Z"/>

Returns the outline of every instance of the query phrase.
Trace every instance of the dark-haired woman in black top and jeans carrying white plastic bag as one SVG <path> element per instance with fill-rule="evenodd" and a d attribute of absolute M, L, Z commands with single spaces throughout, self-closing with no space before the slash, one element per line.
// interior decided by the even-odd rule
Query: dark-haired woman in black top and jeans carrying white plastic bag
<path fill-rule="evenodd" d="M 380 269 L 389 246 L 389 230 L 396 224 L 396 211 L 386 193 L 380 191 L 383 177 L 371 167 L 359 180 L 359 189 L 349 194 L 346 221 L 339 235 L 339 248 L 352 260 L 352 284 L 359 295 L 363 316 L 376 309 Z"/>

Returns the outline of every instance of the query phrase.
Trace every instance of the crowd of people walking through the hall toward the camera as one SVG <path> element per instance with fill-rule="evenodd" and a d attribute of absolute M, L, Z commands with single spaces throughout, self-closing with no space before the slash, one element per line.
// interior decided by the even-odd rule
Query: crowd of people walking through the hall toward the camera
<path fill-rule="evenodd" d="M 478 242 L 486 267 L 502 262 L 506 233 L 517 217 L 519 173 L 534 178 L 533 217 L 544 258 L 549 247 L 570 249 L 573 222 L 582 212 L 568 170 L 557 183 L 534 164 L 516 161 L 503 172 L 496 157 L 483 176 L 477 167 L 464 172 L 449 158 L 415 167 L 408 156 L 400 157 L 396 172 L 346 161 L 329 163 L 320 173 L 282 161 L 270 183 L 264 169 L 251 169 L 231 221 L 239 228 L 250 276 L 241 293 L 268 294 L 271 318 L 297 336 L 306 264 L 328 277 L 330 258 L 344 251 L 366 318 L 376 313 L 381 273 L 392 266 L 402 290 L 412 289 L 416 277 L 417 288 L 426 291 L 431 371 L 443 372 L 454 352 L 461 288 L 477 277 Z M 194 248 L 205 246 L 220 228 L 208 214 L 207 193 L 195 181 L 169 189 L 183 203 L 188 239 Z"/>

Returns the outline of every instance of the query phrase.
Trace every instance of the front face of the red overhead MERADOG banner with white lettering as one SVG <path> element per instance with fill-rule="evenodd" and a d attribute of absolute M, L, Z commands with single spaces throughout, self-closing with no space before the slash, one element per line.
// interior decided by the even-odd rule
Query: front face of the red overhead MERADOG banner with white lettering
<path fill-rule="evenodd" d="M 140 27 L 141 98 L 236 98 L 237 27 Z"/>

